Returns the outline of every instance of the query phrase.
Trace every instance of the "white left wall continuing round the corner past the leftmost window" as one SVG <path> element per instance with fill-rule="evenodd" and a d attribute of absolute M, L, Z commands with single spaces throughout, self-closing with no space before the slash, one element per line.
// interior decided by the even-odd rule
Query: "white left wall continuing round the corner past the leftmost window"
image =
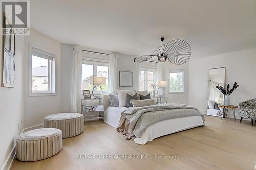
<path fill-rule="evenodd" d="M 1 36 L 2 38 L 2 36 Z M 57 54 L 55 96 L 29 96 L 29 44 L 45 48 Z M 3 42 L 1 63 L 3 66 Z M 15 152 L 17 135 L 26 128 L 44 123 L 44 117 L 61 111 L 61 56 L 60 43 L 31 30 L 30 36 L 16 36 L 15 87 L 0 87 L 0 166 L 8 168 Z M 2 72 L 0 74 L 2 80 Z M 2 81 L 1 81 L 2 82 Z M 23 122 L 22 122 L 22 120 Z M 18 129 L 19 124 L 19 129 Z M 15 151 L 15 150 L 14 150 Z M 8 162 L 6 162 L 8 161 Z M 6 165 L 6 166 L 5 166 Z"/>

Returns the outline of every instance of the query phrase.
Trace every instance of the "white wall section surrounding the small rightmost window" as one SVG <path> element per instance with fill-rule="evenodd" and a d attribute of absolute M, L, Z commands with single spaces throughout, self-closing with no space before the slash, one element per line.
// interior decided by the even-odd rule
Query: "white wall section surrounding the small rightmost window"
<path fill-rule="evenodd" d="M 186 78 L 186 86 L 185 86 L 185 93 L 170 93 L 168 92 L 168 87 L 165 88 L 166 94 L 165 96 L 168 97 L 168 103 L 183 103 L 188 104 L 188 75 L 190 72 L 188 71 L 188 63 L 183 65 L 174 65 L 169 62 L 165 62 L 163 66 L 163 80 L 168 81 L 169 83 L 169 70 L 170 69 L 185 69 L 185 78 Z"/>

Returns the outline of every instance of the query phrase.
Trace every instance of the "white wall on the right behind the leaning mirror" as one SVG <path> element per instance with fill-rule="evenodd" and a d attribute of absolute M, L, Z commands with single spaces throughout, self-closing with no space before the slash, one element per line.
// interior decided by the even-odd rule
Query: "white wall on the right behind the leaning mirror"
<path fill-rule="evenodd" d="M 201 111 L 207 109 L 208 69 L 226 67 L 226 84 L 238 82 L 240 87 L 230 95 L 230 104 L 256 98 L 256 48 L 189 61 L 189 105 Z M 238 115 L 238 110 L 236 111 Z M 229 117 L 232 114 L 229 113 Z"/>

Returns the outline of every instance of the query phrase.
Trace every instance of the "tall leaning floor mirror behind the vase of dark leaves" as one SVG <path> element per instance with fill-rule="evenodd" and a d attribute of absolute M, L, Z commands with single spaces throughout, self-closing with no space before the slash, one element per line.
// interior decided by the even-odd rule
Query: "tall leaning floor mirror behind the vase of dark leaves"
<path fill-rule="evenodd" d="M 216 86 L 225 87 L 225 67 L 209 69 L 207 115 L 221 117 L 218 105 L 224 104 L 224 95 Z"/>

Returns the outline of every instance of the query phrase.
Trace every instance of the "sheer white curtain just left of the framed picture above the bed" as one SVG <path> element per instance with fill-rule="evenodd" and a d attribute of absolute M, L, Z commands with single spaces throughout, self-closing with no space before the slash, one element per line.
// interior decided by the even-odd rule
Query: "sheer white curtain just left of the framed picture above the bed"
<path fill-rule="evenodd" d="M 115 94 L 117 85 L 117 54 L 110 54 L 109 93 Z"/>

